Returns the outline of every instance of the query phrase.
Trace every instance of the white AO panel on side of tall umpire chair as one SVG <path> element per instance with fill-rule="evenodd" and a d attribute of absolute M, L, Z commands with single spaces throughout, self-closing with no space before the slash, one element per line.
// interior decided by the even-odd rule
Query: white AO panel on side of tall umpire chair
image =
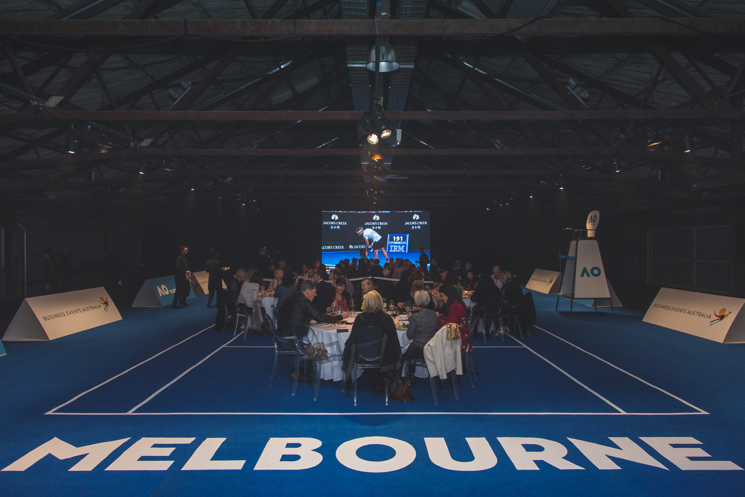
<path fill-rule="evenodd" d="M 597 240 L 572 240 L 569 242 L 568 255 L 576 257 L 576 260 L 568 259 L 566 262 L 561 286 L 562 295 L 571 296 L 574 284 L 575 299 L 610 298 Z M 574 279 L 577 280 L 576 283 Z"/>

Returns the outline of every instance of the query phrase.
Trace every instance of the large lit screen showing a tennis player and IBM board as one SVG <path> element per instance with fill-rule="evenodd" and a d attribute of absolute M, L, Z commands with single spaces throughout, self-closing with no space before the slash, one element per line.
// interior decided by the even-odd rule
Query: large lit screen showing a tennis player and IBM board
<path fill-rule="evenodd" d="M 429 212 L 422 211 L 323 211 L 321 212 L 321 261 L 334 267 L 343 259 L 375 258 L 378 249 L 381 265 L 385 253 L 393 259 L 419 260 L 419 247 L 429 250 Z M 358 234 L 358 229 L 362 234 Z"/>

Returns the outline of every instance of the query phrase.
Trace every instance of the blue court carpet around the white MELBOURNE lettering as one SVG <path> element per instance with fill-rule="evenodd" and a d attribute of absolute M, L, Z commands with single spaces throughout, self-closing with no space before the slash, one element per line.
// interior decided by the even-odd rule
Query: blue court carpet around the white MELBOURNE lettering
<path fill-rule="evenodd" d="M 280 358 L 269 387 L 270 339 L 216 333 L 206 297 L 178 310 L 127 309 L 121 321 L 55 341 L 9 342 L 0 357 L 0 468 L 54 437 L 76 447 L 129 440 L 91 471 L 68 471 L 83 455 L 47 455 L 25 471 L 0 472 L 0 495 L 743 495 L 745 471 L 684 471 L 639 438 L 693 437 L 700 445 L 675 447 L 700 447 L 711 457 L 690 460 L 745 467 L 742 344 L 643 323 L 641 313 L 625 308 L 612 317 L 609 309 L 580 306 L 570 317 L 554 311 L 555 297 L 534 297 L 538 323 L 530 336 L 487 338 L 486 344 L 477 338 L 475 387 L 463 377 L 460 400 L 452 389 L 438 390 L 437 406 L 425 380 L 414 384 L 414 402 L 388 406 L 364 378 L 356 408 L 338 382 L 323 382 L 317 402 L 311 385 L 299 385 L 291 396 L 288 358 Z M 161 444 L 174 448 L 170 455 L 140 458 L 174 461 L 168 469 L 105 470 L 142 437 L 194 440 Z M 320 440 L 316 452 L 323 460 L 309 469 L 255 471 L 270 437 Z M 404 440 L 416 458 L 391 472 L 349 469 L 337 460 L 337 447 L 360 437 Z M 444 469 L 432 462 L 425 437 L 444 437 L 451 458 L 460 461 L 474 459 L 466 437 L 484 437 L 498 462 L 482 471 Z M 553 440 L 565 447 L 565 460 L 584 469 L 536 460 L 539 470 L 518 470 L 497 437 Z M 615 447 L 608 437 L 629 437 L 668 469 L 621 458 L 612 458 L 621 469 L 597 469 L 568 440 Z M 213 460 L 245 460 L 243 468 L 182 471 L 206 438 L 226 439 Z M 381 445 L 357 452 L 370 461 L 394 454 Z"/>

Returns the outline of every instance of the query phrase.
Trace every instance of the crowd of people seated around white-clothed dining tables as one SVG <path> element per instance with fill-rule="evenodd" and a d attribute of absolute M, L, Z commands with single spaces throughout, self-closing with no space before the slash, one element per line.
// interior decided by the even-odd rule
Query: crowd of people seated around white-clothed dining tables
<path fill-rule="evenodd" d="M 262 251 L 265 247 L 262 248 Z M 495 299 L 505 306 L 516 306 L 522 297 L 522 288 L 515 281 L 509 270 L 502 270 L 499 265 L 492 267 L 491 273 L 479 273 L 470 262 L 456 259 L 449 269 L 440 268 L 437 261 L 429 260 L 424 250 L 416 262 L 408 259 L 390 259 L 380 265 L 378 259 L 367 259 L 364 250 L 360 257 L 344 259 L 334 268 L 329 268 L 316 259 L 311 265 L 302 265 L 292 270 L 285 260 L 270 261 L 263 271 L 256 267 L 233 269 L 226 267 L 219 259 L 218 250 L 212 250 L 212 256 L 206 264 L 209 273 L 209 300 L 212 306 L 213 296 L 217 295 L 218 314 L 215 320 L 215 331 L 222 331 L 226 326 L 226 314 L 232 319 L 239 314 L 253 315 L 253 332 L 269 333 L 266 318 L 276 322 L 276 345 L 281 350 L 294 351 L 294 325 L 308 325 L 311 320 L 317 323 L 337 323 L 349 317 L 350 311 L 359 311 L 352 324 L 351 334 L 346 341 L 343 355 L 343 370 L 348 372 L 354 358 L 352 350 L 355 335 L 359 329 L 375 326 L 388 336 L 386 343 L 396 344 L 381 351 L 381 369 L 365 370 L 373 385 L 373 390 L 381 393 L 384 380 L 395 386 L 396 375 L 400 376 L 403 361 L 423 359 L 425 344 L 434 337 L 446 323 L 454 323 L 461 330 L 461 354 L 472 352 L 469 345 L 469 317 L 483 314 L 484 309 Z M 183 279 L 186 268 L 188 247 L 181 247 L 176 261 L 177 303 L 186 304 L 179 293 L 178 282 Z M 264 278 L 267 276 L 267 278 Z M 378 291 L 375 278 L 384 278 L 393 284 L 387 291 Z M 265 279 L 270 279 L 265 282 Z M 358 281 L 358 285 L 352 282 Z M 223 284 L 226 288 L 223 289 Z M 276 303 L 273 315 L 267 315 L 261 309 L 261 290 L 273 291 Z M 473 303 L 468 308 L 463 303 L 463 291 L 472 290 L 470 297 Z M 383 294 L 386 298 L 383 297 Z M 188 294 L 187 294 L 188 295 Z M 386 305 L 387 300 L 387 305 Z M 413 303 L 413 304 L 412 304 Z M 411 311 L 407 336 L 412 341 L 405 355 L 398 346 L 396 326 L 393 318 L 386 312 L 392 308 L 408 308 Z M 234 321 L 230 324 L 237 326 Z M 247 326 L 247 325 L 245 325 Z M 413 369 L 413 368 L 411 368 Z M 312 381 L 312 373 L 302 371 L 299 381 Z M 346 375 L 349 378 L 349 375 Z M 294 373 L 291 374 L 294 378 Z M 441 387 L 451 386 L 451 379 L 442 380 Z"/>

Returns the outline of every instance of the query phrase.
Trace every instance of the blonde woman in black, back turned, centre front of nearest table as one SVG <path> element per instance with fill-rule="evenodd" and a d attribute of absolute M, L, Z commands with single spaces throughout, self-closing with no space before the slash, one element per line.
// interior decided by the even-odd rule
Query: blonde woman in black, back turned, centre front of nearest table
<path fill-rule="evenodd" d="M 388 387 L 391 391 L 396 389 L 396 378 L 401 376 L 403 367 L 403 356 L 401 355 L 401 344 L 399 344 L 399 335 L 396 334 L 396 325 L 393 323 L 393 317 L 385 312 L 383 297 L 377 291 L 371 290 L 365 294 L 365 310 L 355 317 L 355 323 L 352 325 L 352 332 L 346 340 L 343 353 L 342 370 L 346 377 L 346 385 L 352 386 L 352 370 L 354 368 L 355 356 L 357 355 L 355 338 L 357 332 L 367 326 L 375 326 L 384 333 L 384 341 L 381 344 L 379 370 L 364 370 L 365 376 L 373 384 L 375 393 L 383 393 L 383 379 L 388 379 Z"/>

